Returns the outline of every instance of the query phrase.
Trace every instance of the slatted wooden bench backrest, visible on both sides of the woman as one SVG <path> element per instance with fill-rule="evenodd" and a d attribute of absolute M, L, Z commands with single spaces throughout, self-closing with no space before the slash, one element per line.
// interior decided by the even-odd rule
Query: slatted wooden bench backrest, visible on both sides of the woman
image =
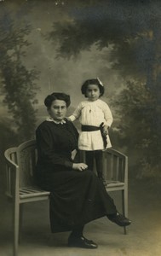
<path fill-rule="evenodd" d="M 84 152 L 81 159 L 84 160 Z M 13 191 L 34 185 L 34 172 L 37 163 L 37 143 L 35 140 L 20 144 L 17 148 L 9 148 L 5 152 L 7 159 L 7 195 L 12 197 Z M 12 161 L 12 164 L 9 163 Z M 14 165 L 13 165 L 14 163 Z M 109 182 L 127 183 L 128 158 L 126 155 L 108 148 L 103 152 L 104 178 Z"/>

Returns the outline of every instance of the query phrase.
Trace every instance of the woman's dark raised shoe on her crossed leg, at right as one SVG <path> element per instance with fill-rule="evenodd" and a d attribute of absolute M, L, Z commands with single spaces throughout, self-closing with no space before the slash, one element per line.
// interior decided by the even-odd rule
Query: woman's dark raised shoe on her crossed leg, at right
<path fill-rule="evenodd" d="M 131 224 L 129 218 L 124 217 L 121 213 L 117 212 L 116 214 L 107 214 L 107 218 L 109 218 L 112 222 L 118 224 L 118 226 L 125 227 Z"/>

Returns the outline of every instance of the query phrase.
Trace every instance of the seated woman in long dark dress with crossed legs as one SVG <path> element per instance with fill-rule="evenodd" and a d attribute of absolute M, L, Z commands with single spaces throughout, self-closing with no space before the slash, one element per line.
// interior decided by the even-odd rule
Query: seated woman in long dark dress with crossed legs
<path fill-rule="evenodd" d="M 52 93 L 44 100 L 49 117 L 37 127 L 37 184 L 51 191 L 49 203 L 52 232 L 72 231 L 69 247 L 96 248 L 94 241 L 83 236 L 83 227 L 106 216 L 127 226 L 130 220 L 121 215 L 101 180 L 88 166 L 72 160 L 78 148 L 78 131 L 66 120 L 70 96 Z"/>

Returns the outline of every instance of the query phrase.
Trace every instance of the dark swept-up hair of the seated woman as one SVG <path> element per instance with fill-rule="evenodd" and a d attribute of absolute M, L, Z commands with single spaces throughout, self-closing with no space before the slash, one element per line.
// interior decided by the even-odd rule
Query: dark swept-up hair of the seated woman
<path fill-rule="evenodd" d="M 45 98 L 44 104 L 49 109 L 51 107 L 52 102 L 54 102 L 55 100 L 66 102 L 66 108 L 68 108 L 71 104 L 70 96 L 62 92 L 54 92 L 50 94 Z"/>

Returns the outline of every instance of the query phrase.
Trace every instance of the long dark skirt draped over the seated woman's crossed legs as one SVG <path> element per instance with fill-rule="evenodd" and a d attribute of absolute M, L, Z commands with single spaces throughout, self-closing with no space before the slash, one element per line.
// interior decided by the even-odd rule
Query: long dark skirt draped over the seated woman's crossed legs
<path fill-rule="evenodd" d="M 51 191 L 49 216 L 53 233 L 73 230 L 117 212 L 103 183 L 89 170 L 53 172 L 43 177 L 43 184 L 43 189 Z"/>

